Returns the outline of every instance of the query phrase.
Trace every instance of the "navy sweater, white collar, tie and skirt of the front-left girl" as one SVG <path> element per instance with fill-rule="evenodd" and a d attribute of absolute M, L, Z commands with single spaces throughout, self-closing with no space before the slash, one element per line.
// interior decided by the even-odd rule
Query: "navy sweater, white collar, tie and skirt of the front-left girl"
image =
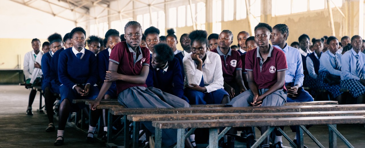
<path fill-rule="evenodd" d="M 71 47 L 59 54 L 58 78 L 62 83 L 59 87 L 61 102 L 66 98 L 71 103 L 74 99 L 94 100 L 99 94 L 99 89 L 94 86 L 97 81 L 96 57 L 93 52 L 85 48 L 79 52 Z M 74 89 L 76 86 L 83 88 L 87 84 L 90 84 L 87 96 L 80 96 Z"/>

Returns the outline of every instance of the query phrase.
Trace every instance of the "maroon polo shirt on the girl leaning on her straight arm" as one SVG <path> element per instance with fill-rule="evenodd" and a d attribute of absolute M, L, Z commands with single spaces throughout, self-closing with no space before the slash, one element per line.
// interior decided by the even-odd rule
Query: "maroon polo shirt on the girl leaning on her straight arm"
<path fill-rule="evenodd" d="M 150 66 L 150 50 L 146 47 L 138 47 L 141 54 L 137 56 L 137 53 L 132 50 L 131 47 L 124 42 L 119 42 L 113 47 L 110 53 L 109 61 L 118 64 L 119 74 L 124 75 L 139 75 L 143 65 Z M 144 86 L 146 84 L 133 84 L 125 81 L 116 81 L 117 94 L 126 90 L 129 87 Z"/>

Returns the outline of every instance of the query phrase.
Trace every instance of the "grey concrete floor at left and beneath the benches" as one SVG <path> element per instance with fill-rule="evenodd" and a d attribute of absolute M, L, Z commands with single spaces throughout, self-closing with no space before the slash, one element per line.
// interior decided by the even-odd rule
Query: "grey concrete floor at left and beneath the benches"
<path fill-rule="evenodd" d="M 53 143 L 57 132 L 46 133 L 48 119 L 45 114 L 38 114 L 39 94 L 37 94 L 32 105 L 34 116 L 26 115 L 28 105 L 28 96 L 30 90 L 24 86 L 18 85 L 0 85 L 0 148 L 18 148 L 18 147 L 54 147 Z M 44 104 L 44 100 L 43 100 Z M 57 121 L 55 122 L 57 130 Z M 337 125 L 339 132 L 350 141 L 355 148 L 364 147 L 365 135 L 363 125 Z M 63 147 L 105 147 L 100 143 L 87 144 L 85 142 L 86 134 L 76 129 L 66 126 L 65 145 Z M 326 125 L 312 126 L 309 131 L 322 143 L 328 147 L 328 127 Z M 256 130 L 257 137 L 260 136 Z M 290 138 L 295 136 L 289 127 L 285 127 L 284 132 Z M 346 148 L 346 145 L 337 140 L 338 148 Z M 318 147 L 306 134 L 304 134 L 304 143 L 308 148 Z M 283 137 L 284 146 L 290 146 L 288 141 Z M 206 147 L 205 144 L 199 144 L 198 147 Z M 246 144 L 237 141 L 237 148 L 245 148 Z"/>

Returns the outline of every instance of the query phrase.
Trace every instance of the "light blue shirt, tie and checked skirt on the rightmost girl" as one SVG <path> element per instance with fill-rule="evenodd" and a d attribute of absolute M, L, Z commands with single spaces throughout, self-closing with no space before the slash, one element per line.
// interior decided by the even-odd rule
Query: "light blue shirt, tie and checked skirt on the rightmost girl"
<path fill-rule="evenodd" d="M 360 79 L 365 78 L 365 54 L 356 53 L 353 48 L 341 57 L 341 87 L 349 89 L 354 98 L 365 93 L 365 86 Z"/>

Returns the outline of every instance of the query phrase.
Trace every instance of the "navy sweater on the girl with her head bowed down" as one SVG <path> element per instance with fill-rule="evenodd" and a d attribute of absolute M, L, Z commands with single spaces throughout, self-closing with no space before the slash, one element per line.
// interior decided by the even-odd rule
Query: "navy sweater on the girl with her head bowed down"
<path fill-rule="evenodd" d="M 178 59 L 174 58 L 169 62 L 169 67 L 165 74 L 163 74 L 162 71 L 163 70 L 157 71 L 157 69 L 153 69 L 152 66 L 150 66 L 150 72 L 146 79 L 147 87 L 156 87 L 179 98 L 183 97 L 184 81 Z"/>

